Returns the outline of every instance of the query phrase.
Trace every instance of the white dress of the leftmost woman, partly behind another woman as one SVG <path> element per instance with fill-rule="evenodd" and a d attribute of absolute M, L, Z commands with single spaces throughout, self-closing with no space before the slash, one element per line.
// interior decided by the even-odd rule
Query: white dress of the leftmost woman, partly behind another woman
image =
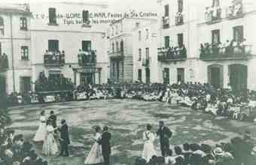
<path fill-rule="evenodd" d="M 38 130 L 35 133 L 34 141 L 35 142 L 43 142 L 46 136 L 46 118 L 44 115 L 40 117 L 40 124 Z"/>

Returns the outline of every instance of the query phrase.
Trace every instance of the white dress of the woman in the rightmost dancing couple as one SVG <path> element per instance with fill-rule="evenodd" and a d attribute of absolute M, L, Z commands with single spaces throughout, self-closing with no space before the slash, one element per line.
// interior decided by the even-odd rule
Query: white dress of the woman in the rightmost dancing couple
<path fill-rule="evenodd" d="M 145 131 L 143 133 L 143 140 L 144 142 L 144 148 L 142 151 L 142 158 L 149 162 L 151 160 L 151 157 L 154 155 L 157 155 L 156 151 L 154 150 L 154 139 L 155 135 L 151 131 Z"/>

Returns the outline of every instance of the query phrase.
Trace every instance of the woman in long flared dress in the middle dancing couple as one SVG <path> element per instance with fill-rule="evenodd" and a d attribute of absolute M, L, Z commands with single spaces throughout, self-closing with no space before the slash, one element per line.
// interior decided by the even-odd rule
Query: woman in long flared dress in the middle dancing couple
<path fill-rule="evenodd" d="M 103 156 L 102 156 L 102 145 L 100 141 L 102 139 L 102 134 L 100 132 L 100 127 L 97 126 L 95 128 L 96 135 L 94 137 L 94 144 L 93 147 L 90 149 L 89 154 L 87 155 L 86 159 L 84 160 L 84 164 L 96 164 L 96 163 L 103 163 Z"/>

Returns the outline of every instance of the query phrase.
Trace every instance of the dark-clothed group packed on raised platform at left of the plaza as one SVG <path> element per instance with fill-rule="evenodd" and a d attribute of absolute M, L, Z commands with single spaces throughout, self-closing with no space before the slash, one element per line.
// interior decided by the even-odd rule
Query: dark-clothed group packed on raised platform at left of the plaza
<path fill-rule="evenodd" d="M 65 91 L 73 90 L 74 84 L 72 80 L 59 76 L 45 76 L 44 72 L 39 74 L 38 80 L 35 82 L 35 92 L 53 92 L 53 91 Z"/>

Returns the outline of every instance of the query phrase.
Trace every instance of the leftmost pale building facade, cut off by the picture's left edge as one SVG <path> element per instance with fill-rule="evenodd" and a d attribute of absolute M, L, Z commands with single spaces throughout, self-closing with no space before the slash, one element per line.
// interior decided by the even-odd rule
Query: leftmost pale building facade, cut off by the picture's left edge
<path fill-rule="evenodd" d="M 29 5 L 0 7 L 0 92 L 31 89 L 31 16 Z"/>

